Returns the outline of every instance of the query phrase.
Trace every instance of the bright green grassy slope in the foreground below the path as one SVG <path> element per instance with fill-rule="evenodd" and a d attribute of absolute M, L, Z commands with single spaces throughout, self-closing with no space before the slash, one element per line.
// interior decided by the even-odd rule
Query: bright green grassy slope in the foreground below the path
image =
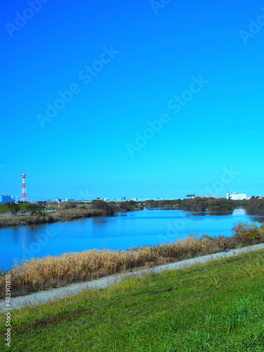
<path fill-rule="evenodd" d="M 15 310 L 12 351 L 264 351 L 263 253 Z"/>

